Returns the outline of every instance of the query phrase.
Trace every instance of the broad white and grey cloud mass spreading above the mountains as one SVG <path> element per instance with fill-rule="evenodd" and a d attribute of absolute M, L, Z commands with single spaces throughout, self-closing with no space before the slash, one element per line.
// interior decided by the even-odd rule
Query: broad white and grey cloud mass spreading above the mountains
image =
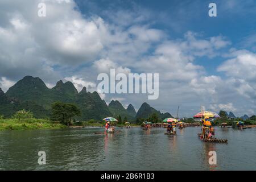
<path fill-rule="evenodd" d="M 256 109 L 255 53 L 230 49 L 223 54 L 231 42 L 222 35 L 205 37 L 187 31 L 183 37 L 171 39 L 166 30 L 153 28 L 147 22 L 152 18 L 148 11 L 108 10 L 102 13 L 108 17 L 104 19 L 97 14 L 82 14 L 72 0 L 43 1 L 47 16 L 40 18 L 39 2 L 0 2 L 3 90 L 31 75 L 41 77 L 49 88 L 65 78 L 79 91 L 83 86 L 94 91 L 98 73 L 115 68 L 116 73 L 159 73 L 159 99 L 148 101 L 156 109 L 170 108 L 171 113 L 176 113 L 176 106 L 183 105 L 183 113 L 191 116 L 203 104 L 243 112 L 246 109 L 240 103 L 246 101 L 251 110 Z M 217 56 L 227 59 L 217 68 L 225 78 L 208 74 L 196 61 Z M 118 98 L 135 107 L 147 101 L 143 94 L 100 96 L 107 102 Z"/>

